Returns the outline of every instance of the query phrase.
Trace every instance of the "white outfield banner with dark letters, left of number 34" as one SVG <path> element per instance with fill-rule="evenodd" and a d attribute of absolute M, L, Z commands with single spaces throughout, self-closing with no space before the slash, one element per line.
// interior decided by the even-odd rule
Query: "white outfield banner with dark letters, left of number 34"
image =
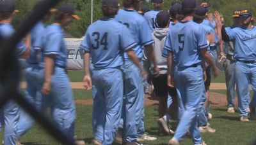
<path fill-rule="evenodd" d="M 79 49 L 83 39 L 65 39 L 67 46 L 67 69 L 68 70 L 83 70 L 83 50 Z"/>

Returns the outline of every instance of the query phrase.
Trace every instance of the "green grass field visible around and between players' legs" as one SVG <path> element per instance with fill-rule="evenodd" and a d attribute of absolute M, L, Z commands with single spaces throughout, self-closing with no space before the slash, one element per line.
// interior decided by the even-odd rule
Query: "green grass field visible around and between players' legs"
<path fill-rule="evenodd" d="M 83 72 L 69 71 L 70 81 L 81 81 L 83 79 Z M 214 78 L 213 82 L 224 83 L 224 74 L 220 73 L 218 78 Z M 213 90 L 225 94 L 225 90 Z M 83 89 L 74 89 L 75 100 L 92 99 L 92 92 Z M 86 144 L 91 144 L 93 139 L 92 134 L 92 105 L 77 104 L 77 118 L 76 118 L 76 135 L 78 139 L 83 139 Z M 213 119 L 210 121 L 211 126 L 216 128 L 214 134 L 202 134 L 202 139 L 207 144 L 250 144 L 256 139 L 255 125 L 256 121 L 249 123 L 241 123 L 237 110 L 235 114 L 228 114 L 227 108 L 211 107 Z M 167 144 L 172 136 L 159 135 L 157 126 L 157 105 L 145 107 L 145 129 L 150 135 L 157 137 L 157 141 L 144 142 L 144 144 Z M 172 122 L 175 125 L 175 121 Z M 3 132 L 0 132 L 1 139 L 3 139 Z M 51 136 L 44 131 L 40 125 L 35 125 L 27 134 L 25 134 L 20 141 L 22 144 L 36 145 L 36 144 L 58 144 Z M 193 144 L 190 137 L 184 137 L 182 144 Z"/>

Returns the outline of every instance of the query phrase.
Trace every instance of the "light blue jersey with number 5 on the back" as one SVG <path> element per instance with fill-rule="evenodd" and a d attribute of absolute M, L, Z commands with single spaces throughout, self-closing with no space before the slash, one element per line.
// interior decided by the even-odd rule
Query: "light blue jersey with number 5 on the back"
<path fill-rule="evenodd" d="M 200 64 L 200 49 L 207 48 L 207 40 L 202 25 L 192 20 L 179 22 L 168 32 L 164 49 L 173 53 L 177 67 L 189 67 Z"/>

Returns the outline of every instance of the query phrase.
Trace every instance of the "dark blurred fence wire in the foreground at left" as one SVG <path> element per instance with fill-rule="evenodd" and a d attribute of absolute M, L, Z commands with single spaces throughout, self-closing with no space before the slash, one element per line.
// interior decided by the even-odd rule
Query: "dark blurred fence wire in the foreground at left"
<path fill-rule="evenodd" d="M 33 10 L 17 31 L 9 39 L 0 38 L 0 107 L 10 99 L 15 100 L 35 121 L 49 132 L 61 144 L 74 144 L 73 139 L 63 134 L 51 121 L 47 120 L 31 103 L 22 96 L 17 88 L 20 83 L 20 67 L 18 58 L 15 56 L 16 44 L 26 36 L 33 26 L 40 20 L 50 8 L 56 6 L 61 0 L 44 0 L 38 10 Z"/>

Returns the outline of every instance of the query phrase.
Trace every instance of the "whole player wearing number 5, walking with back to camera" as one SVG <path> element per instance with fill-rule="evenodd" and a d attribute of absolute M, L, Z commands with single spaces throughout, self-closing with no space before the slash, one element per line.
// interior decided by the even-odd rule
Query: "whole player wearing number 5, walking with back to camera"
<path fill-rule="evenodd" d="M 168 85 L 171 87 L 175 85 L 177 95 L 180 95 L 178 99 L 184 105 L 179 125 L 168 144 L 179 144 L 188 130 L 194 144 L 204 144 L 196 125 L 196 114 L 205 93 L 202 57 L 212 66 L 214 76 L 218 75 L 218 69 L 207 52 L 205 31 L 201 25 L 193 22 L 195 8 L 195 0 L 182 1 L 184 18 L 173 26 L 164 46 L 164 49 L 168 50 Z M 173 61 L 175 71 L 172 76 Z"/>

